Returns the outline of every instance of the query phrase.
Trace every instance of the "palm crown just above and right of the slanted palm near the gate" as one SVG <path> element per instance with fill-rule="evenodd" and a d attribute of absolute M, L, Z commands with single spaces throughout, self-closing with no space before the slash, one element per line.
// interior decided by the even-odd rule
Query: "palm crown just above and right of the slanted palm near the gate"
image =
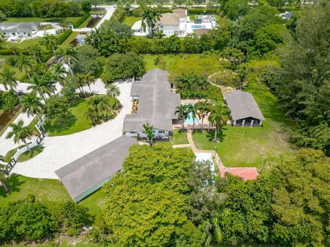
<path fill-rule="evenodd" d="M 56 90 L 54 82 L 45 76 L 32 75 L 29 83 L 31 85 L 28 86 L 28 90 L 32 89 L 34 93 L 39 93 L 43 100 L 46 99 L 45 95 L 50 96 Z"/>

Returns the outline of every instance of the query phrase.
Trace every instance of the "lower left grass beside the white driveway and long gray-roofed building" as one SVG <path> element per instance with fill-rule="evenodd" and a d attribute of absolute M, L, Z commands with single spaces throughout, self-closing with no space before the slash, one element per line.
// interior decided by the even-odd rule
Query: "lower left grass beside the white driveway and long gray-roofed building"
<path fill-rule="evenodd" d="M 52 207 L 52 204 L 56 202 L 72 200 L 65 187 L 57 179 L 28 178 L 12 174 L 7 185 L 11 192 L 5 194 L 3 187 L 0 187 L 0 205 L 23 199 L 29 193 L 34 195 L 36 200 L 49 207 Z M 104 198 L 105 193 L 100 189 L 81 201 L 80 205 L 87 207 L 91 215 L 98 215 Z"/>

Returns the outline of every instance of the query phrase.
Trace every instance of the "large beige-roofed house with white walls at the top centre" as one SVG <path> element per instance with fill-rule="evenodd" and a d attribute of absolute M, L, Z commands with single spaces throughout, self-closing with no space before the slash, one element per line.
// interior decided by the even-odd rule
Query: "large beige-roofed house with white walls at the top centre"
<path fill-rule="evenodd" d="M 177 36 L 186 36 L 188 23 L 187 10 L 176 9 L 173 13 L 162 14 L 157 22 L 156 31 L 162 30 L 166 37 L 176 34 Z"/>

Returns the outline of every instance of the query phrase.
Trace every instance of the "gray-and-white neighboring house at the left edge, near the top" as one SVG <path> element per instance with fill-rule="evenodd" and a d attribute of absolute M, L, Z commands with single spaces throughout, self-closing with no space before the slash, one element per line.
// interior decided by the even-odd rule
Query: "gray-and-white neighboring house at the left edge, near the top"
<path fill-rule="evenodd" d="M 30 37 L 38 31 L 40 23 L 0 23 L 0 34 L 5 37 Z"/>

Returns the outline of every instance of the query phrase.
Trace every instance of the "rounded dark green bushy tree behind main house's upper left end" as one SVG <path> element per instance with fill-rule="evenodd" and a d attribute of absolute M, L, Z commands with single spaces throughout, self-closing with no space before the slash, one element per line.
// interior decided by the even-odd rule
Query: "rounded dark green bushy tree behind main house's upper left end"
<path fill-rule="evenodd" d="M 116 79 L 140 78 L 145 73 L 145 64 L 141 56 L 133 52 L 113 54 L 107 59 L 102 73 L 103 82 Z"/>

